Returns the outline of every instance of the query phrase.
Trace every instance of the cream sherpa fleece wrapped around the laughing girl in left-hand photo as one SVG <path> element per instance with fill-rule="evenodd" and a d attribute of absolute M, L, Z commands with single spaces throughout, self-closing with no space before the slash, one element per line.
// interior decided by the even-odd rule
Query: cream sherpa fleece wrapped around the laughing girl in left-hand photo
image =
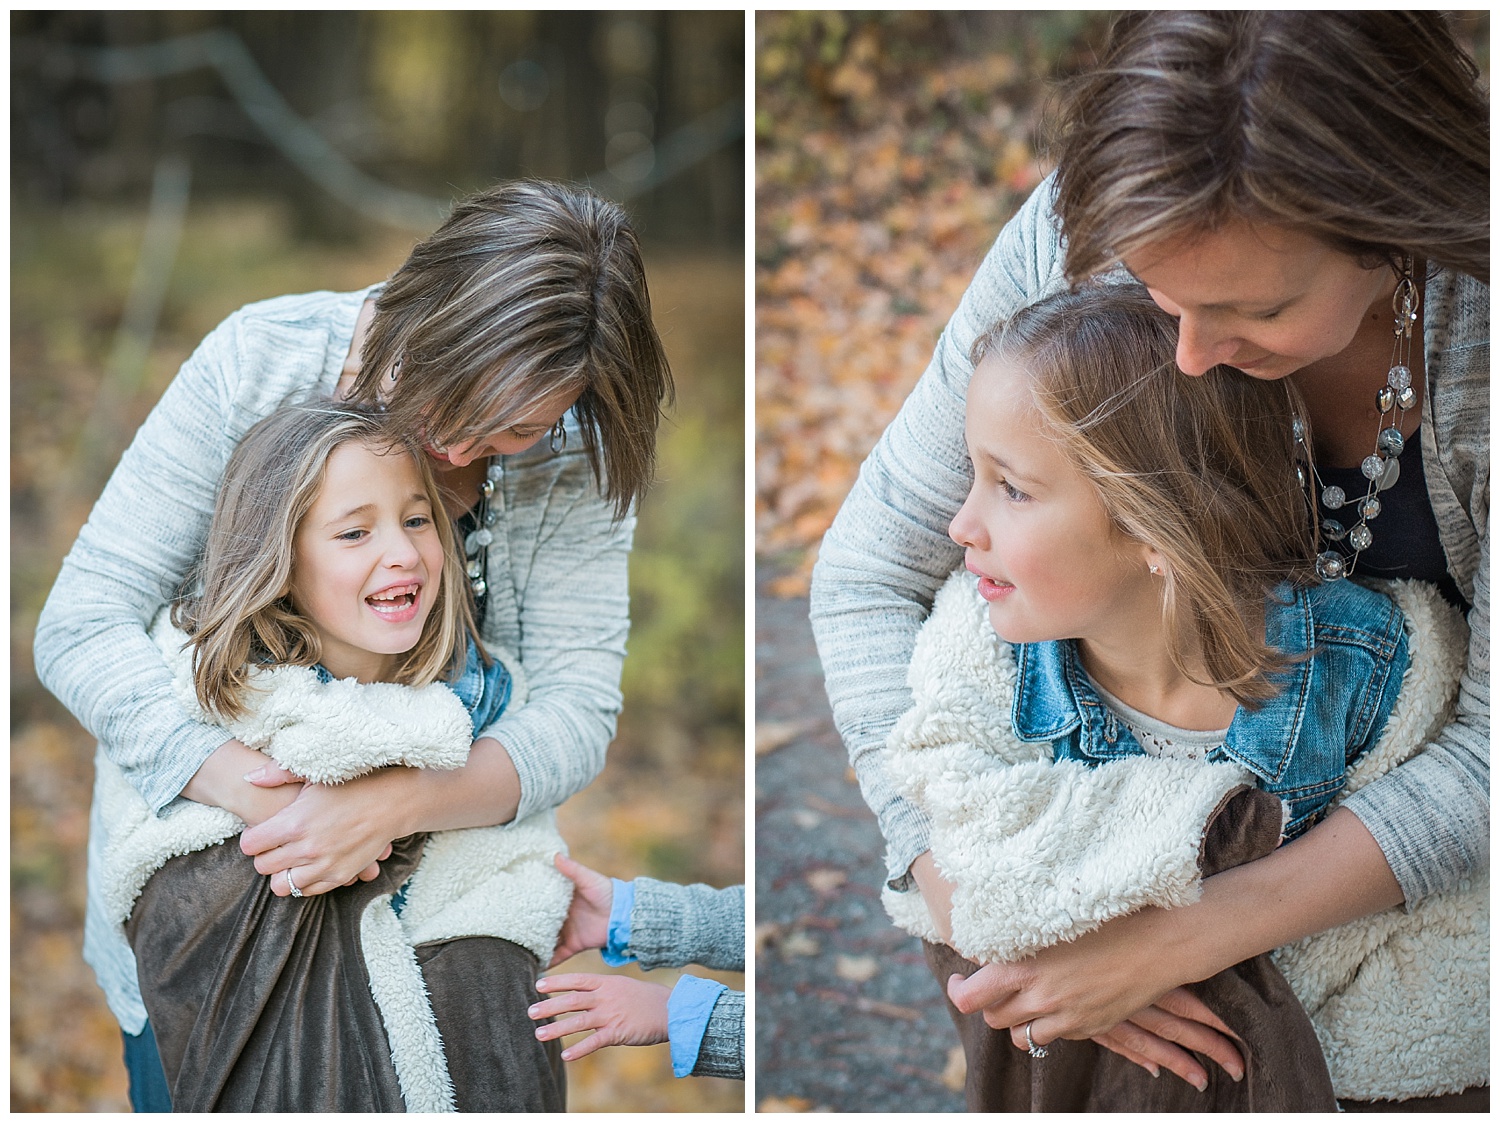
<path fill-rule="evenodd" d="M 192 688 L 186 636 L 164 609 L 152 636 L 172 670 L 172 687 L 190 714 L 202 715 Z M 525 703 L 525 679 L 504 652 L 514 679 L 510 706 Z M 310 667 L 256 672 L 252 712 L 225 724 L 236 738 L 276 763 L 318 783 L 340 783 L 387 765 L 453 769 L 468 760 L 472 726 L 459 697 L 442 684 L 422 688 L 352 679 L 318 682 Z M 105 754 L 94 759 L 94 802 L 105 828 L 102 844 L 110 919 L 123 925 L 147 879 L 168 859 L 202 850 L 244 829 L 236 816 L 186 799 L 160 816 Z M 543 964 L 552 958 L 567 916 L 572 883 L 552 865 L 567 853 L 552 811 L 504 826 L 436 831 L 406 885 L 400 916 L 390 897 L 372 901 L 362 918 L 370 991 L 390 1038 L 392 1062 L 408 1111 L 453 1111 L 447 1072 L 426 985 L 412 948 L 434 940 L 494 936 L 519 943 Z"/>

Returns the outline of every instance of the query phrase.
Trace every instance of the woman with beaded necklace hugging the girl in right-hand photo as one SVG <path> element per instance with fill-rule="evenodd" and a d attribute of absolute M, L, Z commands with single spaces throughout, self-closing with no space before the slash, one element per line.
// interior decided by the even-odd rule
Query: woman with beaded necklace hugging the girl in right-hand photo
<path fill-rule="evenodd" d="M 1420 12 L 1131 13 L 1100 69 L 1080 79 L 1054 180 L 990 252 L 814 571 L 828 693 L 890 841 L 892 885 L 940 895 L 928 825 L 897 796 L 878 750 L 910 705 L 916 628 L 958 564 L 946 528 L 970 483 L 962 468 L 969 348 L 987 324 L 1072 280 L 1131 270 L 1178 316 L 1178 364 L 1190 375 L 1227 363 L 1294 378 L 1318 492 L 1336 477 L 1353 496 L 1320 510 L 1342 520 L 1326 549 L 1346 571 L 1436 582 L 1467 612 L 1473 639 L 1456 717 L 1424 753 L 1294 844 L 1208 879 L 1200 904 L 1143 910 L 951 985 L 960 1015 L 982 1011 L 1023 1047 L 1024 1030 L 1036 1045 L 1094 1036 L 1206 1084 L 1173 1041 L 1227 1069 L 1240 1062 L 1204 1029 L 1209 1017 L 1184 984 L 1484 870 L 1486 120 L 1473 64 L 1442 16 Z M 1408 321 L 1420 342 L 1394 357 L 1392 301 L 1407 279 L 1420 300 Z M 1412 394 L 1377 426 L 1392 366 L 1410 369 Z M 1398 429 L 1401 442 L 1388 438 L 1377 451 L 1382 427 Z M 1366 492 L 1359 465 L 1390 450 L 1400 478 L 1382 469 L 1370 484 L 1395 486 Z M 1368 498 L 1383 511 L 1366 517 Z M 1359 526 L 1372 544 L 1356 558 Z M 1486 1072 L 1464 1077 L 1479 1084 Z M 1486 1104 L 1488 1089 L 1461 1107 L 1474 1110 L 1479 1096 Z M 1414 1098 L 1371 1089 L 1354 1099 Z"/>

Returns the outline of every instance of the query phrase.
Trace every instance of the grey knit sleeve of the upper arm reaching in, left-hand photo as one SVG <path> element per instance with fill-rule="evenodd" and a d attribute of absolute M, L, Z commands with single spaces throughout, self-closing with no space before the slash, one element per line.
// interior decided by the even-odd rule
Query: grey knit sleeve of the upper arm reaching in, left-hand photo
<path fill-rule="evenodd" d="M 746 888 L 711 889 L 651 877 L 634 880 L 630 954 L 639 964 L 682 967 L 690 963 L 738 972 L 746 966 Z"/>

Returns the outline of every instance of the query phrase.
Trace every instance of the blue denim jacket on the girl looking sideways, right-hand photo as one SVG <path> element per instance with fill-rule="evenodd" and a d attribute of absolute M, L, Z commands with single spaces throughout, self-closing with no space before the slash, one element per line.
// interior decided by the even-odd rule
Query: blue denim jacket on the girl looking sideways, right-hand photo
<path fill-rule="evenodd" d="M 1266 643 L 1300 660 L 1272 675 L 1280 694 L 1234 712 L 1209 759 L 1242 765 L 1280 796 L 1292 838 L 1318 820 L 1384 729 L 1410 664 L 1406 622 L 1389 597 L 1348 580 L 1282 585 L 1266 603 Z M 1144 753 L 1094 693 L 1072 640 L 1014 646 L 1011 724 L 1022 741 L 1050 741 L 1054 760 L 1090 766 Z"/>

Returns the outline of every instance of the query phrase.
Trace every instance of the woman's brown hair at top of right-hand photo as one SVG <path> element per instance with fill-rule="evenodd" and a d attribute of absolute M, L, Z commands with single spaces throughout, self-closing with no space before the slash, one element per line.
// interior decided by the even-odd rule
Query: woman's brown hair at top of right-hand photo
<path fill-rule="evenodd" d="M 1072 280 L 1240 217 L 1490 282 L 1490 106 L 1440 12 L 1130 12 L 1054 147 Z"/>

